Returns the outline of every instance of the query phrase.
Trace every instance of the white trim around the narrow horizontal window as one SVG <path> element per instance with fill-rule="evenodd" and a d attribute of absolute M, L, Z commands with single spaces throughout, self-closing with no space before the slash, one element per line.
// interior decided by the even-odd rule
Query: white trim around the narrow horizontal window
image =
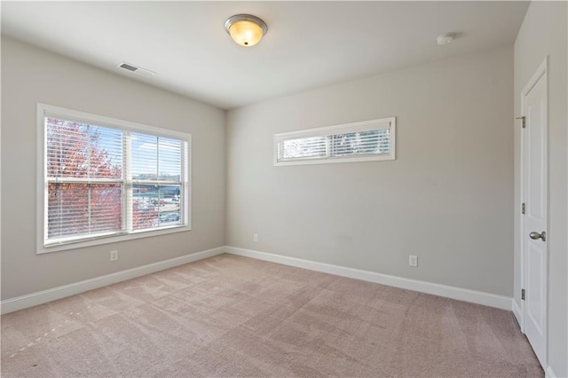
<path fill-rule="evenodd" d="M 368 130 L 390 130 L 390 148 L 388 154 L 352 154 L 343 156 L 331 156 L 329 154 L 329 138 L 337 134 L 347 134 Z M 326 155 L 318 157 L 298 157 L 279 161 L 279 144 L 287 140 L 322 137 L 326 139 Z M 325 164 L 335 162 L 355 161 L 384 161 L 395 160 L 396 146 L 396 117 L 380 118 L 376 120 L 343 123 L 339 125 L 319 127 L 314 129 L 295 130 L 274 134 L 273 138 L 273 163 L 274 166 L 301 165 L 301 164 Z"/>

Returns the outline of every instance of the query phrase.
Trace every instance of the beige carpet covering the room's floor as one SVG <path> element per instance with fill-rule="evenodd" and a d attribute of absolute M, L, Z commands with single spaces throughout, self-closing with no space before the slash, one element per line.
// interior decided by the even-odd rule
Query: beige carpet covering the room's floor
<path fill-rule="evenodd" d="M 543 372 L 510 311 L 221 255 L 4 315 L 2 376 Z"/>

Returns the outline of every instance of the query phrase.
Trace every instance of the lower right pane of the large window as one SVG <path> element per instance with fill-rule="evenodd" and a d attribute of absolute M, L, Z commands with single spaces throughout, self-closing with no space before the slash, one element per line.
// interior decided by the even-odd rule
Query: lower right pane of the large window
<path fill-rule="evenodd" d="M 132 228 L 182 224 L 181 185 L 134 185 L 132 188 Z"/>

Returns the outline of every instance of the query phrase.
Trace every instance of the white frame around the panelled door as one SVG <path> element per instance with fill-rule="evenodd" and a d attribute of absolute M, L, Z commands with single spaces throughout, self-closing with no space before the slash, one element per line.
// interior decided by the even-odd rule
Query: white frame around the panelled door
<path fill-rule="evenodd" d="M 543 75 L 547 75 L 546 77 L 546 84 L 547 84 L 547 99 L 546 99 L 546 112 L 547 112 L 547 122 L 546 124 L 543 126 L 545 129 L 545 137 L 546 137 L 546 145 L 545 145 L 545 155 L 547 156 L 547 164 L 546 164 L 546 171 L 547 171 L 547 177 L 546 177 L 546 181 L 547 181 L 547 203 L 546 203 L 546 207 L 547 207 L 547 228 L 548 228 L 548 213 L 549 213 L 549 199 L 548 199 L 548 56 L 544 59 L 544 61 L 542 61 L 542 63 L 540 63 L 540 66 L 536 69 L 536 71 L 534 72 L 533 76 L 531 77 L 531 79 L 528 81 L 528 83 L 526 83 L 525 88 L 523 89 L 523 91 L 521 91 L 520 93 L 520 97 L 521 97 L 521 115 L 523 117 L 523 122 L 525 122 L 525 96 L 528 94 L 529 91 L 531 91 L 534 87 L 534 85 L 536 83 L 539 82 L 540 78 Z M 525 188 L 525 142 L 526 142 L 526 137 L 525 137 L 525 130 L 526 129 L 521 129 L 521 140 L 520 140 L 520 201 L 521 203 L 518 205 L 519 209 L 522 206 L 523 203 L 526 203 L 526 188 Z M 521 284 L 521 288 L 524 289 L 525 288 L 525 284 L 526 284 L 526 259 L 525 259 L 525 254 L 526 254 L 526 250 L 525 250 L 525 217 L 522 211 L 519 211 L 519 217 L 520 217 L 520 222 L 519 222 L 519 246 L 520 246 L 520 284 Z M 548 360 L 548 242 L 545 245 L 545 266 L 546 266 L 546 272 L 545 272 L 545 295 L 544 295 L 544 301 L 545 301 L 545 308 L 544 308 L 544 319 L 545 319 L 545 359 Z M 520 293 L 519 293 L 520 295 Z M 519 326 L 521 327 L 521 331 L 523 332 L 523 334 L 525 334 L 525 301 L 521 299 L 520 301 L 520 319 L 519 320 Z M 546 369 L 546 366 L 543 366 L 544 369 Z"/>

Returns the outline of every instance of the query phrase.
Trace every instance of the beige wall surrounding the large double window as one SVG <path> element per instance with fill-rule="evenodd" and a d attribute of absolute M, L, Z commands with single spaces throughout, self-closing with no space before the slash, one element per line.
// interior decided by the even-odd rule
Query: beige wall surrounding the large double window
<path fill-rule="evenodd" d="M 36 255 L 38 102 L 191 133 L 193 230 Z M 220 247 L 225 112 L 3 37 L 2 185 L 3 300 Z"/>

